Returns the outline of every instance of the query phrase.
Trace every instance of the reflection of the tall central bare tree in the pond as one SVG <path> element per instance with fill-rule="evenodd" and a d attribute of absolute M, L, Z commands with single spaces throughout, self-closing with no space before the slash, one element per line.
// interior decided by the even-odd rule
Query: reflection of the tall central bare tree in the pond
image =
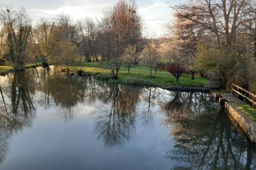
<path fill-rule="evenodd" d="M 95 130 L 106 147 L 121 147 L 134 134 L 135 110 L 140 92 L 131 92 L 121 85 L 111 85 L 105 92 L 101 96 L 104 104 L 95 114 Z"/>

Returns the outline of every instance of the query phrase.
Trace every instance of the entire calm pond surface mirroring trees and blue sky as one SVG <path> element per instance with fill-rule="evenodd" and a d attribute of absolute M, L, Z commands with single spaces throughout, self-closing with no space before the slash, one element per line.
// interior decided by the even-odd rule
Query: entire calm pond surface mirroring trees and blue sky
<path fill-rule="evenodd" d="M 0 76 L 0 169 L 255 169 L 207 93 L 36 68 Z"/>

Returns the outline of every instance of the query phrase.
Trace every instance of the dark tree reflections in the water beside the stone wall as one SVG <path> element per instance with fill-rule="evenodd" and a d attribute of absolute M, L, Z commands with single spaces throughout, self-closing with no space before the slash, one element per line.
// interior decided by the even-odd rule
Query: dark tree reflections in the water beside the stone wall
<path fill-rule="evenodd" d="M 224 110 L 212 106 L 204 95 L 174 92 L 162 103 L 164 124 L 172 125 L 174 136 L 174 149 L 166 157 L 186 164 L 173 169 L 255 168 L 253 144 L 238 133 Z"/>

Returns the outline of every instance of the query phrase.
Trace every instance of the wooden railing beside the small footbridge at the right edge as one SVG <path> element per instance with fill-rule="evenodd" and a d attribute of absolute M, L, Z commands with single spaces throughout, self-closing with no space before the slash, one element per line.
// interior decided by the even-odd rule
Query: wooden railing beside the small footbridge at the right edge
<path fill-rule="evenodd" d="M 256 105 L 255 99 L 256 99 L 256 94 L 232 83 L 232 94 L 234 92 L 237 93 L 237 95 L 243 96 L 243 98 L 247 99 L 249 102 L 252 103 L 252 108 Z"/>

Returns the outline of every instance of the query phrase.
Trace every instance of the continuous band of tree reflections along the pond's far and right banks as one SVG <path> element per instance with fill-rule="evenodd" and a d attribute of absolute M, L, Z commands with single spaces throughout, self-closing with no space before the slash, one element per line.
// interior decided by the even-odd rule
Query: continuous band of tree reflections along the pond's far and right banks
<path fill-rule="evenodd" d="M 171 148 L 162 153 L 163 159 L 179 164 L 168 165 L 173 169 L 255 168 L 253 144 L 207 93 L 109 84 L 68 76 L 54 67 L 8 74 L 0 78 L 0 87 L 1 163 L 14 132 L 32 127 L 38 108 L 52 109 L 63 122 L 72 123 L 78 108 L 90 106 L 94 135 L 105 148 L 122 149 L 137 131 L 151 131 L 160 122 L 168 129 Z"/>

